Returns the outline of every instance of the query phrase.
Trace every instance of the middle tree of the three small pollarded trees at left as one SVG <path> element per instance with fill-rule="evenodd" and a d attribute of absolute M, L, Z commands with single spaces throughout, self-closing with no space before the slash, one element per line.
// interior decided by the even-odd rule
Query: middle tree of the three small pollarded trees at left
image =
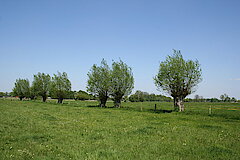
<path fill-rule="evenodd" d="M 38 74 L 34 75 L 32 87 L 37 95 L 42 96 L 42 101 L 46 102 L 51 87 L 50 75 L 38 72 Z"/>

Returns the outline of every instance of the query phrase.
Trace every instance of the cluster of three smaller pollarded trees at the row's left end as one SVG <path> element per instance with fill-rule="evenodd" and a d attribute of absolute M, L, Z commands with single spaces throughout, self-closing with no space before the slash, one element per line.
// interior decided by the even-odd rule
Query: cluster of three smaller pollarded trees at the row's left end
<path fill-rule="evenodd" d="M 49 74 L 38 73 L 34 75 L 32 85 L 28 79 L 17 79 L 13 93 L 20 100 L 23 98 L 34 99 L 36 96 L 41 96 L 43 102 L 47 97 L 58 98 L 58 103 L 62 103 L 66 95 L 71 91 L 71 82 L 68 79 L 67 73 L 58 72 L 51 77 Z"/>

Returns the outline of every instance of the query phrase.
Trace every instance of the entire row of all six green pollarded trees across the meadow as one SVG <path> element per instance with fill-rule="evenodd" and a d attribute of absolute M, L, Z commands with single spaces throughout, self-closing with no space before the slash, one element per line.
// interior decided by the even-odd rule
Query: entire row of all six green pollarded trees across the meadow
<path fill-rule="evenodd" d="M 184 60 L 181 52 L 177 50 L 160 63 L 159 71 L 154 77 L 157 88 L 173 97 L 175 110 L 180 112 L 184 111 L 184 98 L 195 91 L 201 80 L 202 70 L 199 62 Z M 88 73 L 87 91 L 98 97 L 101 107 L 106 106 L 109 97 L 113 99 L 115 107 L 120 107 L 123 97 L 128 96 L 133 87 L 132 69 L 121 60 L 113 62 L 110 68 L 103 59 L 100 66 L 94 64 Z M 52 78 L 44 73 L 34 75 L 31 88 L 28 80 L 16 81 L 14 93 L 20 99 L 26 97 L 27 93 L 31 96 L 31 91 L 42 96 L 43 101 L 50 92 L 51 96 L 58 98 L 58 103 L 62 103 L 65 94 L 71 91 L 71 83 L 65 72 Z"/>

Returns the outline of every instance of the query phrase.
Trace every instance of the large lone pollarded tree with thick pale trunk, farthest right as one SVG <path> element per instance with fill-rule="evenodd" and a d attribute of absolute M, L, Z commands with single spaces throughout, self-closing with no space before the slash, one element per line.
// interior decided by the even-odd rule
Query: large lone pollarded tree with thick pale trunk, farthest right
<path fill-rule="evenodd" d="M 184 98 L 195 91 L 201 80 L 199 62 L 184 60 L 181 52 L 177 50 L 160 63 L 158 74 L 154 77 L 157 88 L 173 97 L 174 108 L 179 112 L 184 111 Z"/>

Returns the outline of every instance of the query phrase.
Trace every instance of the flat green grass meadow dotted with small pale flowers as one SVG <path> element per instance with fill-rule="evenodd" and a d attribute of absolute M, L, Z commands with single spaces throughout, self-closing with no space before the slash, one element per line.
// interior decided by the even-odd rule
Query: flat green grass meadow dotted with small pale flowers
<path fill-rule="evenodd" d="M 240 159 L 238 103 L 96 105 L 0 99 L 0 159 Z"/>

